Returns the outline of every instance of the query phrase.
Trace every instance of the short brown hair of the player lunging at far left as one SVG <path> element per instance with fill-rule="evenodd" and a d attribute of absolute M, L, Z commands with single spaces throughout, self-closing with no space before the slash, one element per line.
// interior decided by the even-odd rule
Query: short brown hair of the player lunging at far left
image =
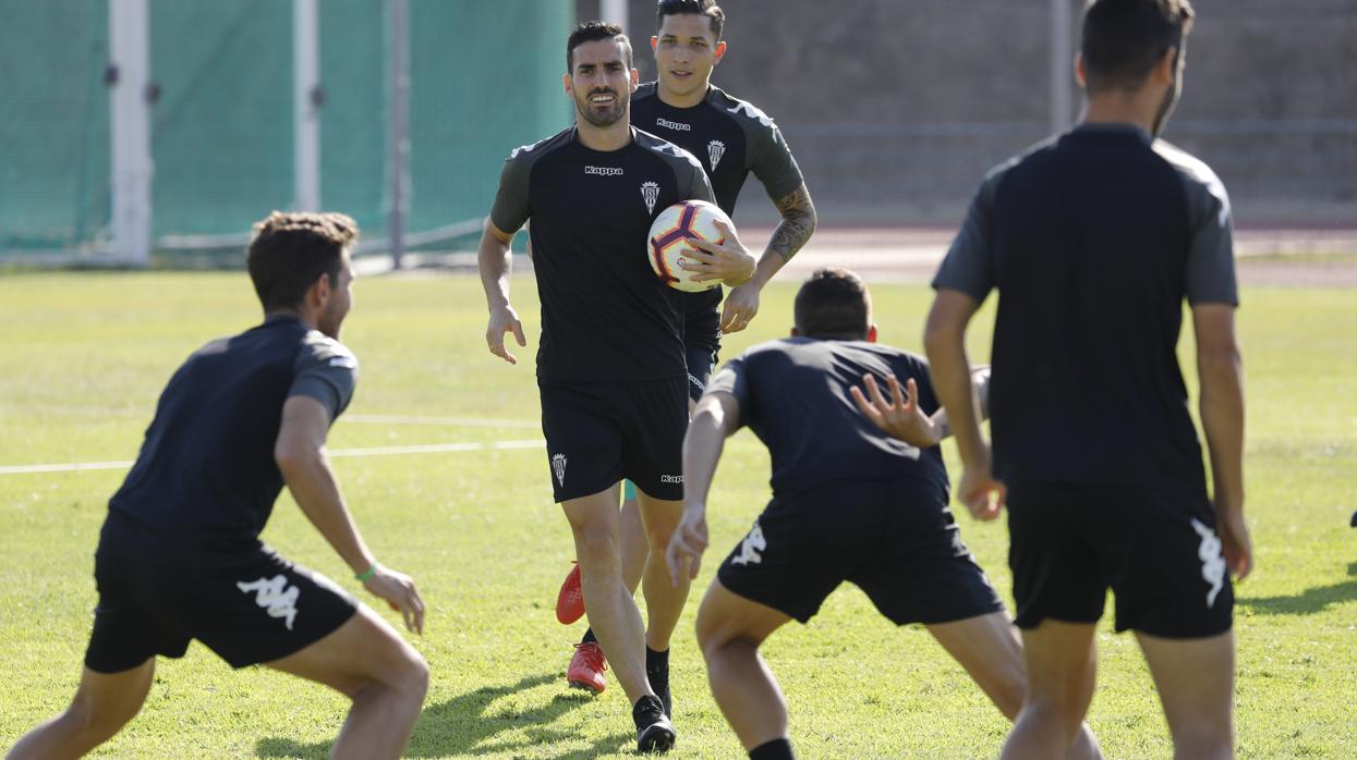
<path fill-rule="evenodd" d="M 320 275 L 339 286 L 343 252 L 358 237 L 345 214 L 274 211 L 255 222 L 246 268 L 265 312 L 296 309 Z"/>

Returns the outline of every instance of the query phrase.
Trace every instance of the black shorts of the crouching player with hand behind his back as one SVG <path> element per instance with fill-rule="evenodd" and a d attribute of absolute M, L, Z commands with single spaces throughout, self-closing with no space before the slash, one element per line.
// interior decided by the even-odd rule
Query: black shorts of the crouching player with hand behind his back
<path fill-rule="evenodd" d="M 773 497 L 716 577 L 802 623 L 845 580 L 896 625 L 997 612 L 1003 601 L 946 500 L 944 488 L 904 478 L 844 480 Z"/>

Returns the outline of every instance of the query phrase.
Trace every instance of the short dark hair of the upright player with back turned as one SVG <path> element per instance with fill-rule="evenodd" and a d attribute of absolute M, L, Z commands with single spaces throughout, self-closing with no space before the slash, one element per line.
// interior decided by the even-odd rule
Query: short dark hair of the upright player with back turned
<path fill-rule="evenodd" d="M 1090 0 L 1084 8 L 1084 81 L 1090 93 L 1136 89 L 1170 49 L 1182 57 L 1190 0 Z"/>

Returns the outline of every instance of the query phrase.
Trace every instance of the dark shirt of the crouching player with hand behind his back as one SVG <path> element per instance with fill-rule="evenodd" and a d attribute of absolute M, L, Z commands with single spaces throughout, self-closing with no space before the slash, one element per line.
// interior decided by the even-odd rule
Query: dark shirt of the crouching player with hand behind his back
<path fill-rule="evenodd" d="M 862 340 L 788 337 L 754 345 L 716 373 L 707 393 L 730 393 L 740 423 L 772 457 L 772 492 L 787 497 L 844 478 L 919 478 L 946 501 L 947 470 L 935 446 L 919 450 L 883 434 L 858 410 L 848 389 L 873 374 L 882 387 L 894 374 L 915 378 L 919 406 L 938 409 L 928 363 L 905 351 Z"/>

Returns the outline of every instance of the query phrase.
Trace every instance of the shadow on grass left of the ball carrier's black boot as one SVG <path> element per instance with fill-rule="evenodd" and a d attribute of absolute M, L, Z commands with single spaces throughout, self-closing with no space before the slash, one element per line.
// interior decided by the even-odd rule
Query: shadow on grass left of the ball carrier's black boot
<path fill-rule="evenodd" d="M 487 685 L 455 696 L 441 704 L 426 706 L 419 715 L 419 722 L 415 723 L 415 732 L 410 737 L 404 756 L 495 755 L 577 741 L 578 734 L 552 729 L 551 723 L 567 711 L 588 703 L 592 696 L 586 694 L 558 694 L 547 704 L 522 711 L 506 709 L 487 711 L 491 703 L 502 696 L 528 691 L 559 679 L 559 673 L 527 676 L 516 684 Z M 495 737 L 503 732 L 520 730 L 527 734 L 525 738 L 505 737 L 495 741 Z M 594 741 L 585 749 L 563 752 L 554 755 L 554 757 L 584 760 L 598 755 L 624 752 L 631 748 L 632 741 L 631 733 L 616 733 Z M 289 738 L 269 737 L 259 740 L 255 752 L 261 757 L 322 760 L 330 756 L 332 744 L 332 741 L 301 744 Z"/>

